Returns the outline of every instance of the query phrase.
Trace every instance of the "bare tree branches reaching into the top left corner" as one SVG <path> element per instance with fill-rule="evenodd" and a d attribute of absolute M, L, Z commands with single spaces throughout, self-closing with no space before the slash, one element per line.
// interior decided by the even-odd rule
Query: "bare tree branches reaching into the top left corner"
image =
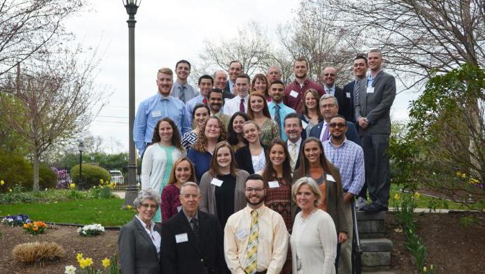
<path fill-rule="evenodd" d="M 81 0 L 3 0 L 0 3 L 0 76 L 71 37 L 63 22 Z"/>

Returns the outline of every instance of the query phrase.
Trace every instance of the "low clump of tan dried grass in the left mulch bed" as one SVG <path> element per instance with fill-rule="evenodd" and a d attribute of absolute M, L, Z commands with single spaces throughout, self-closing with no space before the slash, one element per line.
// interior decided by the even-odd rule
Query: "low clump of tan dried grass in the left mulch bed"
<path fill-rule="evenodd" d="M 12 257 L 24 264 L 55 260 L 64 257 L 64 248 L 57 243 L 43 241 L 39 243 L 17 244 L 12 250 Z"/>

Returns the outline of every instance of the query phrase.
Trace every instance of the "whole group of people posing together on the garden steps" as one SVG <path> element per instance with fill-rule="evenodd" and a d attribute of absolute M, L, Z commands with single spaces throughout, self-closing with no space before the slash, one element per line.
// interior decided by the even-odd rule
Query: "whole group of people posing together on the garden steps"
<path fill-rule="evenodd" d="M 382 53 L 355 57 L 344 89 L 332 67 L 310 80 L 303 58 L 286 85 L 276 66 L 251 81 L 233 61 L 197 92 L 190 71 L 177 62 L 174 84 L 160 69 L 136 113 L 142 190 L 123 273 L 351 273 L 352 203 L 389 199 L 396 84 Z"/>

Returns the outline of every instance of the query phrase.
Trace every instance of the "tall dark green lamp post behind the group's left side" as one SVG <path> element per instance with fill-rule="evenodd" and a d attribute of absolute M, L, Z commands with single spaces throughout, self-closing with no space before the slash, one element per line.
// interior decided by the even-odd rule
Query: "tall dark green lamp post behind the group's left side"
<path fill-rule="evenodd" d="M 136 10 L 140 6 L 141 0 L 123 0 L 123 6 L 126 8 L 126 13 L 129 15 L 128 20 L 128 118 L 130 122 L 130 139 L 129 144 L 129 162 L 128 162 L 128 176 L 127 187 L 125 191 L 125 205 L 132 205 L 136 195 L 138 194 L 138 187 L 136 186 L 136 154 L 134 151 L 133 141 L 133 123 L 134 123 L 134 24 L 136 20 Z"/>

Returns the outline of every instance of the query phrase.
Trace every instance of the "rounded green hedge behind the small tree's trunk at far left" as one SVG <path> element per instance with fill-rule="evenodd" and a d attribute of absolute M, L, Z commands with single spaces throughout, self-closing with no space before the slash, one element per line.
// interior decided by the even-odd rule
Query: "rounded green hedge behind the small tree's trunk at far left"
<path fill-rule="evenodd" d="M 8 188 L 12 188 L 16 184 L 21 185 L 26 190 L 32 190 L 33 177 L 33 164 L 23 156 L 0 155 L 0 180 L 5 182 L 5 185 L 0 186 L 0 192 L 6 192 Z M 50 167 L 43 163 L 39 164 L 39 188 L 41 190 L 55 188 L 57 180 L 57 174 Z"/>

